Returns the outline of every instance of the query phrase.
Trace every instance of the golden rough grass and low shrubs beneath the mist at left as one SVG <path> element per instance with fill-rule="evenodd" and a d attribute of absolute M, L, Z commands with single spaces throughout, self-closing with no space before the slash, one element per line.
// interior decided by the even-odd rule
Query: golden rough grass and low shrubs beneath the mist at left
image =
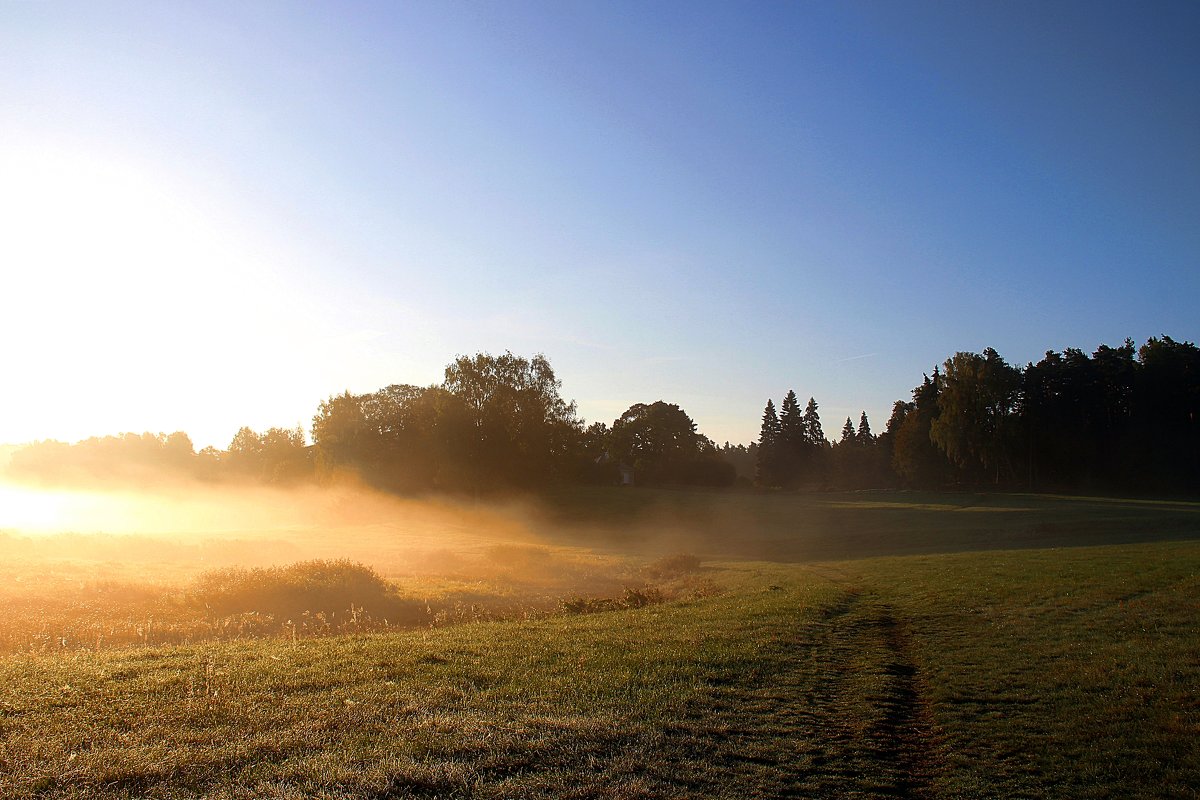
<path fill-rule="evenodd" d="M 258 552 L 254 541 L 232 545 L 234 558 Z M 210 559 L 181 560 L 206 547 L 145 536 L 0 537 L 8 555 L 0 566 L 0 654 L 437 627 L 719 591 L 696 576 L 648 572 L 636 559 L 523 543 L 391 561 L 388 578 L 348 559 L 206 570 Z M 136 557 L 108 559 L 122 552 Z"/>

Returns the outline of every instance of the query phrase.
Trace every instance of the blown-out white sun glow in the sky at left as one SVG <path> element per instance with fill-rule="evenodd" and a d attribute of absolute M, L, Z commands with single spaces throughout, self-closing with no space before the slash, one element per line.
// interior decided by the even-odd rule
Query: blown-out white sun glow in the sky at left
<path fill-rule="evenodd" d="M 299 372 L 299 291 L 199 190 L 50 148 L 0 150 L 0 441 L 186 428 Z"/>

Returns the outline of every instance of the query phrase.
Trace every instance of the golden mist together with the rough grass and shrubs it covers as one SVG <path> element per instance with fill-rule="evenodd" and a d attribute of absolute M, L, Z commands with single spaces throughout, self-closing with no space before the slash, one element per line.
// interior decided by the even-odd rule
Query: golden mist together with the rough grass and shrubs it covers
<path fill-rule="evenodd" d="M 614 529 L 616 530 L 616 529 Z M 540 501 L 347 479 L 133 491 L 0 485 L 0 650 L 438 626 L 710 594 Z M 683 566 L 678 566 L 683 564 Z"/>

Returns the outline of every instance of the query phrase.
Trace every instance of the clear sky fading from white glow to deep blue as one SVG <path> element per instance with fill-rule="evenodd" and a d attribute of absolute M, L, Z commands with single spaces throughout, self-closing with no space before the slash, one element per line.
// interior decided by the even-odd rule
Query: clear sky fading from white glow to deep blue
<path fill-rule="evenodd" d="M 545 354 L 588 421 L 876 432 L 1200 338 L 1200 5 L 0 0 L 0 441 L 308 428 Z"/>

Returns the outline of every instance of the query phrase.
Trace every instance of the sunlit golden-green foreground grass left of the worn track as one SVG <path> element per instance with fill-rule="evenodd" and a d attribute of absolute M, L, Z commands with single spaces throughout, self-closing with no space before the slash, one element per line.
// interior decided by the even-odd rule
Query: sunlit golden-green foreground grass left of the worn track
<path fill-rule="evenodd" d="M 796 584 L 792 600 L 812 613 L 821 591 Z M 694 763 L 697 790 L 715 789 L 710 753 L 691 748 L 728 724 L 704 721 L 712 693 L 756 663 L 757 643 L 721 622 L 757 595 L 769 599 L 10 660 L 0 676 L 18 682 L 0 702 L 18 722 L 4 757 L 18 766 L 23 753 L 24 765 L 0 790 L 619 796 L 671 786 L 677 758 Z M 792 615 L 761 600 L 749 610 L 773 626 Z M 674 744 L 672 724 L 688 726 Z"/>

